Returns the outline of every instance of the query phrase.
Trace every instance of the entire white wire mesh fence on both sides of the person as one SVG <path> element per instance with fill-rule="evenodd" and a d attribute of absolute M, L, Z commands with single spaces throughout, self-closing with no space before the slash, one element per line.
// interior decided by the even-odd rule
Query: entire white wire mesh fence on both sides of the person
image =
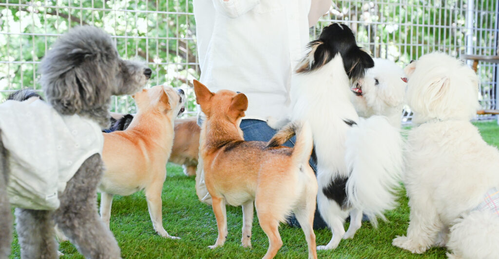
<path fill-rule="evenodd" d="M 498 15 L 497 0 L 337 0 L 310 37 L 343 22 L 374 57 L 401 66 L 432 51 L 490 56 L 498 49 Z M 189 82 L 200 72 L 192 0 L 0 0 L 0 93 L 40 89 L 37 68 L 48 47 L 70 27 L 87 24 L 110 33 L 123 58 L 147 62 L 151 85 L 186 89 L 194 113 Z M 482 106 L 498 108 L 498 66 L 481 63 L 478 74 Z M 114 97 L 113 107 L 135 112 L 127 96 Z"/>

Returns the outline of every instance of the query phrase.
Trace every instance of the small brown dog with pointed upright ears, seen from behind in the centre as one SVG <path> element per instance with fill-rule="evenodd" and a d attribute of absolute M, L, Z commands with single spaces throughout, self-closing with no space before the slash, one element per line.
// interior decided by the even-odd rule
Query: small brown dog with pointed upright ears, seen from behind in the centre
<path fill-rule="evenodd" d="M 317 258 L 312 230 L 317 180 L 308 165 L 312 134 L 307 123 L 290 123 L 268 143 L 244 141 L 239 127 L 248 108 L 243 93 L 211 92 L 194 81 L 196 101 L 206 114 L 201 129 L 200 155 L 205 182 L 213 200 L 218 238 L 214 249 L 227 238 L 226 204 L 243 206 L 243 247 L 251 247 L 253 202 L 269 247 L 264 259 L 273 258 L 282 246 L 279 222 L 294 213 L 308 245 L 308 258 Z M 296 133 L 294 148 L 281 146 Z"/>

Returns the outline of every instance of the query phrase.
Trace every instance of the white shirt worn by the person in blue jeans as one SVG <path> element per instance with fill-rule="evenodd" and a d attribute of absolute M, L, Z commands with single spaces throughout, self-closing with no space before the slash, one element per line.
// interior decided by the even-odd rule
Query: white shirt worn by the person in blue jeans
<path fill-rule="evenodd" d="M 194 0 L 201 83 L 214 92 L 245 93 L 246 119 L 284 116 L 292 70 L 309 42 L 309 18 L 313 25 L 330 5 L 331 0 Z"/>

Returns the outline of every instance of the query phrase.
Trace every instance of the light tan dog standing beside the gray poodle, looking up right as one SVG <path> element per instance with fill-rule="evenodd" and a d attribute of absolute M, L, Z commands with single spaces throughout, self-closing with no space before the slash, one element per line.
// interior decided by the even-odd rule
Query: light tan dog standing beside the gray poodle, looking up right
<path fill-rule="evenodd" d="M 172 151 L 174 120 L 183 112 L 183 90 L 154 86 L 133 95 L 138 112 L 124 131 L 104 134 L 102 159 L 106 170 L 99 186 L 100 213 L 109 226 L 113 195 L 130 195 L 145 189 L 153 227 L 162 237 L 161 191 L 166 163 Z"/>

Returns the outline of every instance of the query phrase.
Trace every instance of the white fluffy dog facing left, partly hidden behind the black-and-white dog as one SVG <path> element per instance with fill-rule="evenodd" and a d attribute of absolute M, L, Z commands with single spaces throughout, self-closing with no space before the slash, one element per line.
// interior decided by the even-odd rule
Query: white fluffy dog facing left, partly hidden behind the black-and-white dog
<path fill-rule="evenodd" d="M 404 70 L 387 59 L 373 59 L 374 67 L 352 86 L 352 103 L 359 116 L 383 115 L 400 128 L 407 78 Z"/>

